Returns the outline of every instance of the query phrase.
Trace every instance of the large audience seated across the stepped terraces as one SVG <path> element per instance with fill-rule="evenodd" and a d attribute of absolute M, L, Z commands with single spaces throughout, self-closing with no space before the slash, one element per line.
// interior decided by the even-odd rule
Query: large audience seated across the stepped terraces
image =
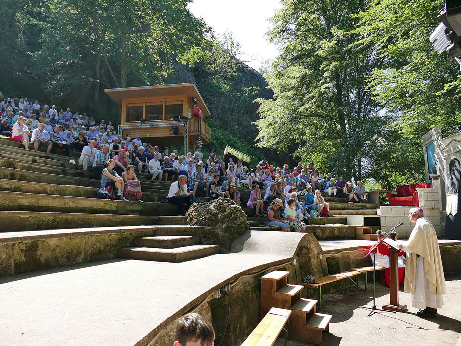
<path fill-rule="evenodd" d="M 285 209 L 295 208 L 299 222 L 306 221 L 312 210 L 319 216 L 329 216 L 329 203 L 325 202 L 322 192 L 328 197 L 347 198 L 349 203 L 361 203 L 366 198 L 360 181 L 353 189 L 351 182 L 345 182 L 343 177 L 335 180 L 331 173 L 324 175 L 313 163 L 303 167 L 299 162 L 291 170 L 288 164 L 276 168 L 265 161 L 249 169 L 241 160 L 234 162 L 230 158 L 229 162 L 223 162 L 214 149 L 208 155 L 198 148 L 194 153 L 180 156 L 176 150 L 170 153 L 168 147 L 160 151 L 157 145 L 143 143 L 139 136 L 132 139 L 127 134 L 122 138 L 112 122 L 97 122 L 86 112 L 72 113 L 70 108 L 58 110 L 54 105 L 42 107 L 38 100 L 32 103 L 27 98 L 15 104 L 13 97 L 5 98 L 1 93 L 0 111 L 2 136 L 22 143 L 26 149 L 32 144 L 34 150 L 44 147 L 48 153 L 56 153 L 57 149 L 62 149 L 67 156 L 70 151 L 81 152 L 78 162 L 83 170 L 92 171 L 95 178 L 100 177 L 101 185 L 104 182 L 111 186 L 120 199 L 129 196 L 140 201 L 138 173 L 149 173 L 152 181 L 166 180 L 172 185 L 186 179 L 185 187 L 181 187 L 186 191 L 189 188 L 188 196 L 203 191 L 209 198 L 226 197 L 238 204 L 241 203 L 238 190 L 248 188 L 251 194 L 246 205 L 254 209 L 255 215 L 267 216 L 268 206 L 280 199 Z M 181 193 L 178 191 L 174 194 Z M 168 198 L 172 197 L 178 196 Z M 183 201 L 186 198 L 183 197 L 173 200 Z M 288 205 L 291 198 L 296 203 Z M 184 212 L 182 208 L 178 211 Z M 287 211 L 293 214 L 291 209 Z M 293 215 L 285 217 L 293 222 Z"/>

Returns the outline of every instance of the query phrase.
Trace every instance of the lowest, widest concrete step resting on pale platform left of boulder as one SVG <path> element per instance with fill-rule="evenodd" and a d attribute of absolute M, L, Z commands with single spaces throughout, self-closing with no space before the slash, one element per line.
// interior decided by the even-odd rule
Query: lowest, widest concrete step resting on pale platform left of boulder
<path fill-rule="evenodd" d="M 118 256 L 134 260 L 183 262 L 210 256 L 220 251 L 218 245 L 190 245 L 174 249 L 129 247 L 118 250 Z"/>

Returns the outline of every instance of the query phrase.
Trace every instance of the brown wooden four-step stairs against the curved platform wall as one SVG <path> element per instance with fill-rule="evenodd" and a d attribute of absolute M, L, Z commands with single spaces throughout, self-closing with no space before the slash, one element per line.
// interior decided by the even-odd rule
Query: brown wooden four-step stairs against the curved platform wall
<path fill-rule="evenodd" d="M 289 274 L 276 270 L 261 277 L 261 316 L 271 307 L 290 309 L 288 339 L 321 345 L 332 316 L 316 312 L 317 300 L 301 298 L 303 286 L 288 284 Z"/>

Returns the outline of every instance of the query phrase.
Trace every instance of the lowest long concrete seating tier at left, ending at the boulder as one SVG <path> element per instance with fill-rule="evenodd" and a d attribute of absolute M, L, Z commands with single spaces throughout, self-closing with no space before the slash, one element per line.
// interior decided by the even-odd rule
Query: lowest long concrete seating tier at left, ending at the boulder
<path fill-rule="evenodd" d="M 187 225 L 187 217 L 0 211 L 0 232 L 111 227 L 126 225 Z M 162 230 L 161 235 L 166 235 L 165 232 L 165 230 Z"/>

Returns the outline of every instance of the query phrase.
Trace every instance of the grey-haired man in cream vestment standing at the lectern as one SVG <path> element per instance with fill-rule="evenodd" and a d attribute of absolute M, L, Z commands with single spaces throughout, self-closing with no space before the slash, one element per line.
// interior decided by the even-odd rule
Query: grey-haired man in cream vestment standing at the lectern
<path fill-rule="evenodd" d="M 420 309 L 419 317 L 437 317 L 445 277 L 436 231 L 421 208 L 410 209 L 408 218 L 415 227 L 408 241 L 399 245 L 407 253 L 404 291 L 412 293 L 412 306 Z"/>

